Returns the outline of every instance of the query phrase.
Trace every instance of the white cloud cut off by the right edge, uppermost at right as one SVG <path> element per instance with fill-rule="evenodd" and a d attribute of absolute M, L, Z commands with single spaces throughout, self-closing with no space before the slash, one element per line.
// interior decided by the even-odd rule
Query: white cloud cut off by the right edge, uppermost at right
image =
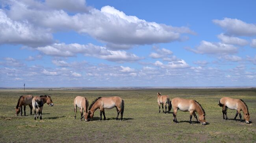
<path fill-rule="evenodd" d="M 239 19 L 224 18 L 223 20 L 212 20 L 214 24 L 219 25 L 226 30 L 228 34 L 236 36 L 255 36 L 256 25 L 247 24 Z"/>

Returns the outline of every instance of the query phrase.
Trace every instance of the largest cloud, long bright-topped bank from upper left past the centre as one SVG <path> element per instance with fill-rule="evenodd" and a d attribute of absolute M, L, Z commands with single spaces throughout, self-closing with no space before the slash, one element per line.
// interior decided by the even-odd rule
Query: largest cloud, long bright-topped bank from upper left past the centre
<path fill-rule="evenodd" d="M 26 2 L 26 0 L 21 0 L 9 3 L 11 6 L 7 10 L 8 18 L 14 21 L 26 21 L 38 29 L 43 28 L 51 32 L 73 30 L 78 33 L 86 33 L 113 49 L 128 49 L 132 45 L 180 41 L 183 39 L 183 33 L 194 34 L 188 27 L 173 27 L 147 22 L 136 16 L 128 16 L 108 5 L 100 10 L 91 8 L 87 13 L 70 15 L 65 11 L 66 9 L 74 11 L 77 7 L 80 7 L 78 9 L 87 9 L 83 0 L 78 2 L 71 2 L 71 0 Z M 55 5 L 56 3 L 58 6 Z M 35 35 L 40 36 L 38 33 Z"/>

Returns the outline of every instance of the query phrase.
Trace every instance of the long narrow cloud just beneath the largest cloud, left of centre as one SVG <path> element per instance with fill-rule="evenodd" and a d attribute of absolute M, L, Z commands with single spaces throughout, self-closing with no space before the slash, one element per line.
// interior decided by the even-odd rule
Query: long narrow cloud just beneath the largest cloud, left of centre
<path fill-rule="evenodd" d="M 70 57 L 76 56 L 76 54 L 80 53 L 84 54 L 85 56 L 94 56 L 111 62 L 119 63 L 134 62 L 142 59 L 137 55 L 128 53 L 126 51 L 111 51 L 106 47 L 96 46 L 91 43 L 87 45 L 80 45 L 78 43 L 56 43 L 45 47 L 38 47 L 37 50 L 50 56 Z"/>

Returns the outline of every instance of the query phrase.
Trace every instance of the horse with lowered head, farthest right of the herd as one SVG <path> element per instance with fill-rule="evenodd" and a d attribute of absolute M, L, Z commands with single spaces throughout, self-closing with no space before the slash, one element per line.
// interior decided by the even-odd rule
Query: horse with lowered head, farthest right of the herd
<path fill-rule="evenodd" d="M 248 107 L 243 100 L 223 97 L 221 98 L 221 100 L 219 100 L 218 105 L 222 107 L 223 119 L 228 119 L 227 110 L 231 109 L 231 110 L 236 110 L 236 116 L 234 120 L 236 120 L 236 117 L 239 114 L 240 121 L 242 121 L 242 115 L 240 113 L 240 111 L 242 110 L 243 118 L 245 119 L 245 122 L 249 124 L 250 114 L 249 114 Z"/>

